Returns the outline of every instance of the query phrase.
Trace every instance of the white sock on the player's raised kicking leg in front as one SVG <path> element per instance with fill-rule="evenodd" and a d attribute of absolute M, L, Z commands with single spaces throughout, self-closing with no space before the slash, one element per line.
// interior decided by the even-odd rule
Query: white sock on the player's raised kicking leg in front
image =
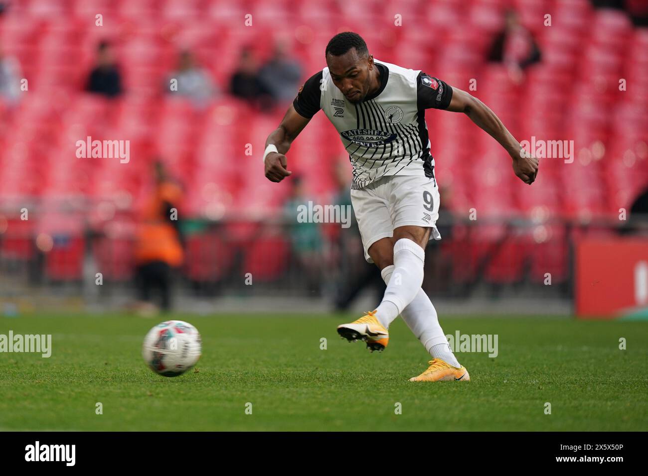
<path fill-rule="evenodd" d="M 376 308 L 376 318 L 389 327 L 394 319 L 414 299 L 423 284 L 425 252 L 409 238 L 394 244 L 394 269 L 382 302 Z"/>

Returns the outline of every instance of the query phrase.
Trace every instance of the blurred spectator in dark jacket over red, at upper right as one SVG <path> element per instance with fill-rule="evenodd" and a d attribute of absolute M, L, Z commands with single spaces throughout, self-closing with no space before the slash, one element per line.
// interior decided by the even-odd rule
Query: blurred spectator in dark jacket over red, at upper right
<path fill-rule="evenodd" d="M 527 66 L 540 61 L 538 43 L 533 34 L 520 23 L 515 10 L 506 11 L 505 27 L 492 42 L 488 60 L 504 63 L 516 82 L 522 81 L 522 71 Z"/>

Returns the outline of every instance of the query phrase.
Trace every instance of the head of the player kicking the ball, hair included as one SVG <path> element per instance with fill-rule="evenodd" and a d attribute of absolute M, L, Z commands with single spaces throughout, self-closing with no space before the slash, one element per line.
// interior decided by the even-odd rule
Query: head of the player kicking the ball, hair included
<path fill-rule="evenodd" d="M 349 102 L 361 102 L 369 93 L 375 65 L 367 43 L 354 32 L 338 33 L 326 47 L 330 77 Z"/>

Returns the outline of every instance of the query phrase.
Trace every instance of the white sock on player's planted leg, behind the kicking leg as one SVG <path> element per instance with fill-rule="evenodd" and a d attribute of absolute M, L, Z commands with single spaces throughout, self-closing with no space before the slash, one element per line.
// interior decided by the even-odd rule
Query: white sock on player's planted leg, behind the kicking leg
<path fill-rule="evenodd" d="M 389 282 L 394 268 L 395 266 L 392 264 L 380 272 L 384 282 Z M 454 367 L 461 367 L 457 358 L 452 354 L 448 339 L 446 339 L 443 329 L 439 325 L 437 310 L 435 310 L 432 301 L 430 301 L 422 288 L 419 288 L 417 295 L 402 310 L 400 316 L 432 357 L 443 359 Z"/>

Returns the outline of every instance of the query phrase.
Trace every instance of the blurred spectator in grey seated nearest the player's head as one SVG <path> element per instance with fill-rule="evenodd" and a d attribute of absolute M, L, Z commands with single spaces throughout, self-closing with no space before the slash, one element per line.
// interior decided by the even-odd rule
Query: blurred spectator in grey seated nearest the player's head
<path fill-rule="evenodd" d="M 301 65 L 289 58 L 287 43 L 275 43 L 273 56 L 261 67 L 259 78 L 276 102 L 290 102 L 295 98 L 301 79 Z"/>

